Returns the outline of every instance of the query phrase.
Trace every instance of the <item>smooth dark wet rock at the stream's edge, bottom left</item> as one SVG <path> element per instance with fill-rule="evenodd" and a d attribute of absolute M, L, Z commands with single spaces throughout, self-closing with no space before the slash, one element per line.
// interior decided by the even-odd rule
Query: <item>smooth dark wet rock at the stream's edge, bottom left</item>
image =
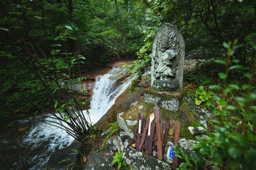
<path fill-rule="evenodd" d="M 76 154 L 71 154 L 74 153 L 71 148 L 74 148 L 76 150 L 79 150 L 81 147 L 82 143 L 81 142 L 75 142 L 69 145 L 67 148 L 62 148 L 52 154 L 50 157 L 48 163 L 47 163 L 47 170 L 63 170 L 63 169 L 68 169 L 66 166 L 70 164 L 70 162 L 62 162 L 58 163 L 61 160 L 68 158 L 71 160 L 76 161 Z M 70 169 L 73 166 L 70 167 Z"/>

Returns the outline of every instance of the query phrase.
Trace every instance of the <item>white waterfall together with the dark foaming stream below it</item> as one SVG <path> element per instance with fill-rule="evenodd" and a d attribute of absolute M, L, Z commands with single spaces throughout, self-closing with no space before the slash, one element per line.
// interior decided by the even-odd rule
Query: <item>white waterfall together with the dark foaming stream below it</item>
<path fill-rule="evenodd" d="M 100 120 L 131 84 L 131 77 L 125 78 L 120 85 L 117 83 L 117 79 L 126 71 L 117 67 L 96 78 L 89 109 L 92 122 Z M 0 134 L 0 169 L 46 169 L 51 154 L 67 147 L 74 140 L 65 131 L 43 122 L 35 122 L 34 119 L 18 123 L 23 125 L 7 128 Z"/>

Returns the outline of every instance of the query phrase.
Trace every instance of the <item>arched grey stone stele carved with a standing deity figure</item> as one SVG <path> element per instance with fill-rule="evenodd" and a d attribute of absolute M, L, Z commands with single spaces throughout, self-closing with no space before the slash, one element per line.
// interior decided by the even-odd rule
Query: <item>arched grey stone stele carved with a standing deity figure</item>
<path fill-rule="evenodd" d="M 151 86 L 160 91 L 182 92 L 184 57 L 182 35 L 172 24 L 164 23 L 153 41 Z"/>

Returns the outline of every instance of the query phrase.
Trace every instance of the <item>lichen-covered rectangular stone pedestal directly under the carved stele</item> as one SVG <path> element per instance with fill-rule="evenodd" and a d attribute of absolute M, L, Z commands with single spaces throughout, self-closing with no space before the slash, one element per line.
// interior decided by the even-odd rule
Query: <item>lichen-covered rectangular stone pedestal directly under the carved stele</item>
<path fill-rule="evenodd" d="M 157 91 L 153 87 L 144 89 L 144 102 L 177 111 L 185 97 L 185 92 Z"/>

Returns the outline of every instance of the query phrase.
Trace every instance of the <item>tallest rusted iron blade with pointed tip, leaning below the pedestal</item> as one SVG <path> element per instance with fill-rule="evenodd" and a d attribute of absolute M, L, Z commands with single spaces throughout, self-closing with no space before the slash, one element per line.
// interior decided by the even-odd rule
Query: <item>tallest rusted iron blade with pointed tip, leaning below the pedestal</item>
<path fill-rule="evenodd" d="M 163 159 L 163 149 L 162 149 L 162 139 L 161 139 L 161 127 L 160 127 L 160 119 L 159 119 L 159 110 L 160 108 L 156 105 L 154 107 L 153 113 L 156 115 L 156 133 L 157 133 L 157 154 L 158 154 L 158 159 L 162 160 Z"/>

